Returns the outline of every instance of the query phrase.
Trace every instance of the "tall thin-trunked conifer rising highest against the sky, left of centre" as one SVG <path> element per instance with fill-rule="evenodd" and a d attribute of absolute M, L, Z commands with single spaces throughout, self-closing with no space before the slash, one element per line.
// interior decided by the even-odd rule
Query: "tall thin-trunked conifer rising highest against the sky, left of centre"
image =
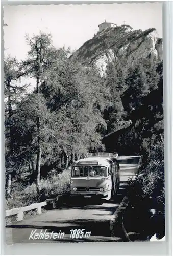
<path fill-rule="evenodd" d="M 40 86 L 45 79 L 45 69 L 51 65 L 51 57 L 54 51 L 52 47 L 51 35 L 40 32 L 39 35 L 33 36 L 32 38 L 27 37 L 26 41 L 30 46 L 30 51 L 28 52 L 28 58 L 23 61 L 23 66 L 28 71 L 30 77 L 36 79 L 36 95 L 38 100 L 38 113 L 41 111 L 40 102 Z M 36 159 L 36 187 L 37 191 L 41 190 L 40 187 L 40 166 L 41 166 L 41 116 L 36 117 L 36 127 L 37 127 L 37 159 Z"/>

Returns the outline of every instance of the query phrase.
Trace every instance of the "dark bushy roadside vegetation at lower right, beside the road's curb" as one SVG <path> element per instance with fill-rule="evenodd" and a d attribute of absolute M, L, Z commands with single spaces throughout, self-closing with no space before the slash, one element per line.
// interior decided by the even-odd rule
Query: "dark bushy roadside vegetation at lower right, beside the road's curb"
<path fill-rule="evenodd" d="M 143 233 L 145 239 L 157 233 L 161 239 L 165 233 L 163 140 L 151 146 L 147 153 L 147 165 L 135 180 L 129 180 L 127 195 L 139 233 Z"/>

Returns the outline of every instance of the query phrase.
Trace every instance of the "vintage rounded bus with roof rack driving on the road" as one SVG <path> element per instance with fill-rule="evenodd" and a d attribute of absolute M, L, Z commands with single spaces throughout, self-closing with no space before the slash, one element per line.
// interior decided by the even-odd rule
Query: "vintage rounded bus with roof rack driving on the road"
<path fill-rule="evenodd" d="M 110 200 L 119 189 L 117 153 L 88 153 L 71 166 L 72 197 Z"/>

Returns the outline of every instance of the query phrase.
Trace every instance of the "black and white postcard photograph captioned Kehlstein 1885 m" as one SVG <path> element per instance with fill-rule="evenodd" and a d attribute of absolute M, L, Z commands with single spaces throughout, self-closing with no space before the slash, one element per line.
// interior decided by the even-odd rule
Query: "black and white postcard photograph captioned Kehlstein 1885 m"
<path fill-rule="evenodd" d="M 6 244 L 165 241 L 162 3 L 3 20 Z"/>

